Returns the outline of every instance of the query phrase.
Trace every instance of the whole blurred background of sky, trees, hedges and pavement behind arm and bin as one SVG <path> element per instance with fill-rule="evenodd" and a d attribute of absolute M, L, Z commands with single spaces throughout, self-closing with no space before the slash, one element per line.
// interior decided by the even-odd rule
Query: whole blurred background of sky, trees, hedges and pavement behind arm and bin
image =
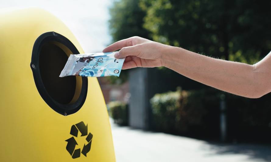
<path fill-rule="evenodd" d="M 271 1 L 0 1 L 53 13 L 85 53 L 131 36 L 248 64 L 271 50 Z M 164 67 L 98 80 L 117 162 L 271 161 L 271 94 L 239 97 Z"/>

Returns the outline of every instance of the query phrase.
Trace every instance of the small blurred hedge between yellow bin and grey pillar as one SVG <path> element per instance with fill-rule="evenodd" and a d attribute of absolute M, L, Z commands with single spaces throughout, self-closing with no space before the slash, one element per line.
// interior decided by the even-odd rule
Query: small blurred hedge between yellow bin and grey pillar
<path fill-rule="evenodd" d="M 128 125 L 128 105 L 124 102 L 114 101 L 108 104 L 109 115 L 114 119 L 114 123 Z"/>

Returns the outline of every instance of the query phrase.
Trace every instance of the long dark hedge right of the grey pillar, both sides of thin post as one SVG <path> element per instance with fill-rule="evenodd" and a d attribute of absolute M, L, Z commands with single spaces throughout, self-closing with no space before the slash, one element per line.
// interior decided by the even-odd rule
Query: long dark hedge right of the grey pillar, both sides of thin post
<path fill-rule="evenodd" d="M 207 139 L 220 137 L 220 96 L 225 96 L 228 140 L 271 141 L 271 94 L 250 99 L 214 88 L 156 94 L 151 98 L 156 131 Z"/>

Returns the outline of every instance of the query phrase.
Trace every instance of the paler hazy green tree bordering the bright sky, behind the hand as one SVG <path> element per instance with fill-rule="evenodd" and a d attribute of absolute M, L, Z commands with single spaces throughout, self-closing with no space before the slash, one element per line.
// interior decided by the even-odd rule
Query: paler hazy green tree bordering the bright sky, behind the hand
<path fill-rule="evenodd" d="M 143 28 L 146 12 L 139 7 L 139 0 L 117 0 L 109 9 L 111 18 L 109 29 L 113 42 L 132 36 L 148 37 L 149 31 Z M 112 43 L 113 43 L 112 42 Z M 128 70 L 121 71 L 120 78 L 108 77 L 111 83 L 123 83 L 128 78 Z"/>

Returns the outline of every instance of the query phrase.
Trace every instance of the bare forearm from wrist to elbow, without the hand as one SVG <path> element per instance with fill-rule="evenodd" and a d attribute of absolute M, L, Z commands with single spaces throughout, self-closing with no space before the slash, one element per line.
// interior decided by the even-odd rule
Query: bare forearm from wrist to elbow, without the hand
<path fill-rule="evenodd" d="M 178 47 L 168 48 L 162 55 L 163 66 L 211 87 L 249 98 L 262 92 L 257 88 L 254 66 L 215 59 Z"/>

